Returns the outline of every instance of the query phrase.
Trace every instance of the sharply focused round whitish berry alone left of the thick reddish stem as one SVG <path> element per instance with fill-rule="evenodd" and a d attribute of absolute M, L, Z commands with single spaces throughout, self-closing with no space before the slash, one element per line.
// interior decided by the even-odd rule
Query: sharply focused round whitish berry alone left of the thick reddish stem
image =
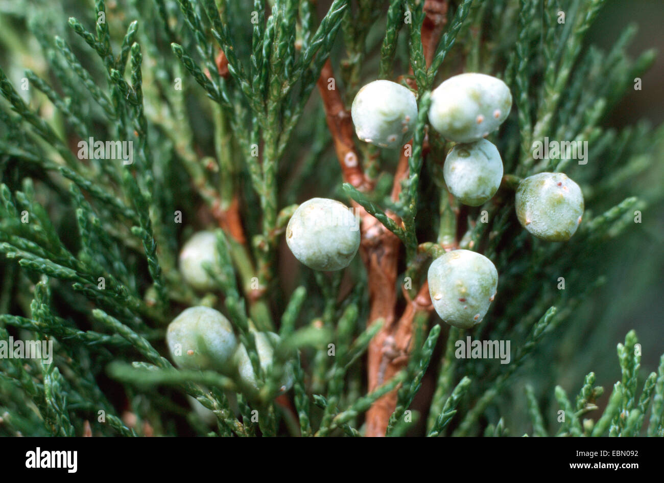
<path fill-rule="evenodd" d="M 293 213 L 286 227 L 286 242 L 295 258 L 309 268 L 341 270 L 360 246 L 359 222 L 343 203 L 312 198 Z"/>

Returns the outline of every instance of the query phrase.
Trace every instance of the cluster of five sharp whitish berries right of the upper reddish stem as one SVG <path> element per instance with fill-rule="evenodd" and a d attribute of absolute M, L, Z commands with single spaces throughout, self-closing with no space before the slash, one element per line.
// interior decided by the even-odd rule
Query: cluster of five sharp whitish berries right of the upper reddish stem
<path fill-rule="evenodd" d="M 445 159 L 445 183 L 464 205 L 483 205 L 501 185 L 503 161 L 497 147 L 485 138 L 507 119 L 511 106 L 512 95 L 505 82 L 485 74 L 453 76 L 432 92 L 429 122 L 455 143 Z M 417 114 L 414 94 L 386 80 L 367 84 L 353 101 L 357 136 L 382 147 L 398 147 L 408 139 Z M 562 173 L 524 179 L 515 205 L 523 227 L 546 241 L 568 240 L 583 213 L 580 188 Z M 440 318 L 467 329 L 481 322 L 489 310 L 498 274 L 485 256 L 454 250 L 431 264 L 428 282 Z"/>

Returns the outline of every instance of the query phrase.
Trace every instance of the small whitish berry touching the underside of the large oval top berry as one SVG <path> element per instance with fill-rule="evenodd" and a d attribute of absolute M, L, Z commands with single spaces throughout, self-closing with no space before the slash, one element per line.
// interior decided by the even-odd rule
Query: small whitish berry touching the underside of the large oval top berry
<path fill-rule="evenodd" d="M 445 183 L 461 203 L 479 206 L 495 195 L 503 179 L 503 160 L 487 140 L 457 144 L 445 158 Z"/>

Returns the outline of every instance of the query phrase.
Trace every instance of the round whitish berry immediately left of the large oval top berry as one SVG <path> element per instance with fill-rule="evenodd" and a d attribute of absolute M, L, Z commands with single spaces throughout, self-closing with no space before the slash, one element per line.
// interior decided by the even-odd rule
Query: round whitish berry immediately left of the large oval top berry
<path fill-rule="evenodd" d="M 417 100 L 396 82 L 374 80 L 355 96 L 351 116 L 361 140 L 381 147 L 401 147 L 415 129 Z"/>

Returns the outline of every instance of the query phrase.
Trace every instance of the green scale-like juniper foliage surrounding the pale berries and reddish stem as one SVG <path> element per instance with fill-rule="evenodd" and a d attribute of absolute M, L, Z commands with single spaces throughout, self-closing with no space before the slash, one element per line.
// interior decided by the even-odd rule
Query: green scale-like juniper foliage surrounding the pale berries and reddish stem
<path fill-rule="evenodd" d="M 0 435 L 82 435 L 88 422 L 94 435 L 361 436 L 365 412 L 396 390 L 390 436 L 663 436 L 664 356 L 644 379 L 635 332 L 618 345 L 612 391 L 595 381 L 616 376 L 616 365 L 581 382 L 565 362 L 582 351 L 585 362 L 612 359 L 609 310 L 592 302 L 618 274 L 608 258 L 661 240 L 661 229 L 641 237 L 645 222 L 634 220 L 661 209 L 664 127 L 603 124 L 654 54 L 629 59 L 633 28 L 608 52 L 584 44 L 604 3 L 450 1 L 428 67 L 423 1 L 1 3 L 0 341 L 52 341 L 53 353 L 50 364 L 0 359 Z M 419 112 L 396 201 L 394 149 L 355 138 L 375 186 L 343 183 L 315 92 L 327 59 L 347 109 L 365 82 L 412 68 Z M 513 96 L 487 138 L 503 183 L 480 207 L 448 197 L 452 144 L 428 125 L 431 90 L 459 72 L 501 78 Z M 90 137 L 131 142 L 133 162 L 81 159 L 78 143 Z M 535 159 L 546 137 L 587 141 L 588 163 Z M 519 180 L 545 171 L 565 172 L 584 195 L 568 242 L 533 238 L 515 214 Z M 481 252 L 499 273 L 482 323 L 463 331 L 418 313 L 408 363 L 368 391 L 363 357 L 384 321 L 367 325 L 361 258 L 345 276 L 301 266 L 293 281 L 282 266 L 288 221 L 311 197 L 353 200 L 398 237 L 398 279 L 412 280 L 399 297 L 417 293 L 441 245 Z M 246 242 L 223 216 L 235 203 Z M 219 260 L 205 266 L 216 284 L 208 293 L 189 288 L 177 266 L 204 229 L 216 233 Z M 638 302 L 648 280 L 618 296 Z M 230 320 L 257 393 L 169 361 L 167 324 L 191 306 Z M 267 370 L 255 330 L 280 336 Z M 466 336 L 511 341 L 511 361 L 457 359 Z M 292 389 L 278 397 L 291 365 Z M 434 389 L 423 395 L 425 378 Z M 426 405 L 414 407 L 416 396 Z"/>

